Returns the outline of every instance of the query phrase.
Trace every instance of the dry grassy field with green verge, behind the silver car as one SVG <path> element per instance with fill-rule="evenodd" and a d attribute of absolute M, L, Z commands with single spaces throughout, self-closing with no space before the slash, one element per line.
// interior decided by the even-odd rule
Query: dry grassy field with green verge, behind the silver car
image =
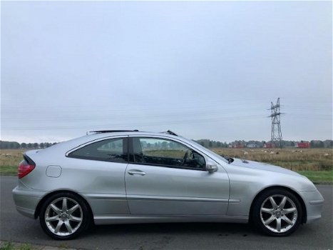
<path fill-rule="evenodd" d="M 0 174 L 16 174 L 23 159 L 22 149 L 4 149 L 0 154 Z M 333 149 L 212 149 L 215 153 L 251 161 L 261 161 L 299 172 L 312 181 L 333 183 Z"/>

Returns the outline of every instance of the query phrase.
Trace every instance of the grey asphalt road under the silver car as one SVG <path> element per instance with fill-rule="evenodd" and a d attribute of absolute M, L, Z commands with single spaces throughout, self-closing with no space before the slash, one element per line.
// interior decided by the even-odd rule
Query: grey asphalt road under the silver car
<path fill-rule="evenodd" d="M 292 236 L 274 238 L 247 224 L 136 224 L 94 226 L 71 241 L 55 241 L 39 221 L 21 216 L 11 190 L 16 177 L 1 176 L 0 240 L 77 249 L 325 249 L 333 250 L 332 186 L 318 185 L 325 199 L 322 219 L 301 225 Z"/>

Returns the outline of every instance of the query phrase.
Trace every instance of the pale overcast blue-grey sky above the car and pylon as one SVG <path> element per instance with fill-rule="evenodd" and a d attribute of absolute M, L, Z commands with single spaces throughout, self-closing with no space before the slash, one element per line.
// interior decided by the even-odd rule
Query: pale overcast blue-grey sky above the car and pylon
<path fill-rule="evenodd" d="M 1 140 L 332 139 L 332 1 L 1 1 Z"/>

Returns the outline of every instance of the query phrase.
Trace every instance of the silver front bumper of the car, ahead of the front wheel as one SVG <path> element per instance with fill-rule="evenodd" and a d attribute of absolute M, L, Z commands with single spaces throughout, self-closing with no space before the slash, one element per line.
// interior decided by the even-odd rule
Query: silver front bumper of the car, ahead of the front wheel
<path fill-rule="evenodd" d="M 307 209 L 307 223 L 322 218 L 322 206 L 324 198 L 319 191 L 299 192 Z"/>

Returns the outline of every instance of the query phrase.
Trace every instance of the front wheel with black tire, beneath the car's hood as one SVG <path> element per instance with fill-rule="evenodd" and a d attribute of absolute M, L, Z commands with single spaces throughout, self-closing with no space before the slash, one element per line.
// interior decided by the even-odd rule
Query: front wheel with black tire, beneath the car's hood
<path fill-rule="evenodd" d="M 255 199 L 251 221 L 264 234 L 288 236 L 302 221 L 302 206 L 290 191 L 268 189 Z"/>

